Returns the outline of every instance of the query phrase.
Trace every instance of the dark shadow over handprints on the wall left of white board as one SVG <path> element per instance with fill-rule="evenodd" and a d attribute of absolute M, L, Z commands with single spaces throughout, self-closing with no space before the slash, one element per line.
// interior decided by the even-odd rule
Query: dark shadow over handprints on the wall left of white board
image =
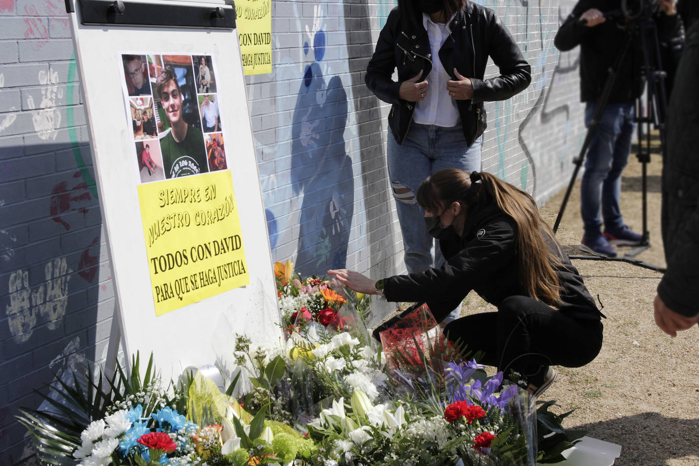
<path fill-rule="evenodd" d="M 52 393 L 55 376 L 72 384 L 73 371 L 85 374 L 88 361 L 103 358 L 113 286 L 92 167 L 81 161 L 89 148 L 57 143 L 3 154 L 0 464 L 13 465 L 31 453 L 17 408 L 38 408 L 34 389 Z"/>

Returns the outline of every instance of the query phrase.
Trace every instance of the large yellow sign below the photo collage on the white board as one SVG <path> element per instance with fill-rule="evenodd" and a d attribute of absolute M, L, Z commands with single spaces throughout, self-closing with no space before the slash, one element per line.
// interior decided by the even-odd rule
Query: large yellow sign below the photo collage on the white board
<path fill-rule="evenodd" d="M 139 184 L 155 314 L 250 283 L 229 170 Z"/>

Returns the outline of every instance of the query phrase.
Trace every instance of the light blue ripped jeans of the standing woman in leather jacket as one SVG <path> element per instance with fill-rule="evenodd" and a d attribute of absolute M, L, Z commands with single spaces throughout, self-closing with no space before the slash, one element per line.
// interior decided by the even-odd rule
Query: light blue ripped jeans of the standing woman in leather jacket
<path fill-rule="evenodd" d="M 442 168 L 461 168 L 467 172 L 481 169 L 482 136 L 466 145 L 461 124 L 452 128 L 413 122 L 402 145 L 391 131 L 388 136 L 387 159 L 391 190 L 396 199 L 398 223 L 403 234 L 405 268 L 408 273 L 439 268 L 445 263 L 439 242 L 427 232 L 425 211 L 417 205 L 420 183 Z M 433 255 L 434 254 L 434 255 Z M 461 307 L 442 323 L 459 318 Z"/>

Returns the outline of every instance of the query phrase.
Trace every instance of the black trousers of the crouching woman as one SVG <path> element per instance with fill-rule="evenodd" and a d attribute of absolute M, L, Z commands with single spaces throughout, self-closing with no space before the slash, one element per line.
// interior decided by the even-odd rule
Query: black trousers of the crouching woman
<path fill-rule="evenodd" d="M 505 298 L 498 312 L 461 317 L 447 324 L 445 335 L 466 345 L 466 351 L 484 351 L 482 364 L 519 372 L 524 377 L 542 366 L 580 367 L 602 348 L 602 323 L 571 319 L 527 296 Z"/>

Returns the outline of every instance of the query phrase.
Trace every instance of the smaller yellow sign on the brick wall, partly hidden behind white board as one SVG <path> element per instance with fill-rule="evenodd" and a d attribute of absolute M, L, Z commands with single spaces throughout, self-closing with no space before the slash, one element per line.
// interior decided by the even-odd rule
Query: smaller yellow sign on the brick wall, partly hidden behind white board
<path fill-rule="evenodd" d="M 236 27 L 245 75 L 272 72 L 272 0 L 236 0 Z"/>

